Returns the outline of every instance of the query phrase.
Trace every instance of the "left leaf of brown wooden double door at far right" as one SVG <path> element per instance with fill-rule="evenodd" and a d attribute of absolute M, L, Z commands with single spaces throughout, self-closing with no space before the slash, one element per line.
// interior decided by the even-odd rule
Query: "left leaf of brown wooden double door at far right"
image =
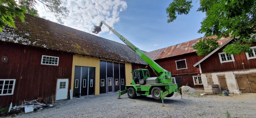
<path fill-rule="evenodd" d="M 236 74 L 237 85 L 241 93 L 251 93 L 246 74 Z"/>

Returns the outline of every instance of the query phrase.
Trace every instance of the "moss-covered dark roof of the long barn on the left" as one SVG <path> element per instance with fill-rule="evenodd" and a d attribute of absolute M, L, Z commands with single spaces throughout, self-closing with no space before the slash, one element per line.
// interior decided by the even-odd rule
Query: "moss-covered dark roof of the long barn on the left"
<path fill-rule="evenodd" d="M 16 29 L 5 28 L 0 40 L 95 56 L 130 63 L 146 64 L 127 45 L 79 31 L 49 20 L 26 15 L 26 23 L 16 20 Z"/>

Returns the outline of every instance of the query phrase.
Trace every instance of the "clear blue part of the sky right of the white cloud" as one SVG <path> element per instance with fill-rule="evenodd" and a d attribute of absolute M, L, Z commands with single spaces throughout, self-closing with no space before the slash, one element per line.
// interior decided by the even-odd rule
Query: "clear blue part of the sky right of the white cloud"
<path fill-rule="evenodd" d="M 126 2 L 127 9 L 120 12 L 120 21 L 114 24 L 114 29 L 141 50 L 153 51 L 203 36 L 197 33 L 205 16 L 196 12 L 199 1 L 193 1 L 194 7 L 188 15 L 180 15 L 172 23 L 167 23 L 165 11 L 171 2 L 169 0 Z M 99 36 L 121 42 L 114 34 L 103 33 Z"/>

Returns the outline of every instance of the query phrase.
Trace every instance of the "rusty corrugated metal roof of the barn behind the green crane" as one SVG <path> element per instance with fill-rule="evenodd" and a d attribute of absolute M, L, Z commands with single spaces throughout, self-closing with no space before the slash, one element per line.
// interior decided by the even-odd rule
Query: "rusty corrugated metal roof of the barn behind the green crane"
<path fill-rule="evenodd" d="M 207 37 L 207 39 L 210 39 L 210 38 L 217 38 L 217 36 Z M 221 38 L 221 39 L 218 40 L 218 43 L 219 43 L 219 45 L 222 45 L 223 43 L 225 43 L 229 39 L 230 38 Z M 188 42 L 180 43 L 180 44 L 177 44 L 177 45 L 174 45 L 174 46 L 170 46 L 170 47 L 150 51 L 150 52 L 147 52 L 146 54 L 151 59 L 157 60 L 157 59 L 169 58 L 169 57 L 172 57 L 172 56 L 178 56 L 178 55 L 183 55 L 183 54 L 195 52 L 196 50 L 194 50 L 192 48 L 192 46 L 194 46 L 197 42 L 199 42 L 199 40 L 200 40 L 200 38 L 190 40 Z"/>

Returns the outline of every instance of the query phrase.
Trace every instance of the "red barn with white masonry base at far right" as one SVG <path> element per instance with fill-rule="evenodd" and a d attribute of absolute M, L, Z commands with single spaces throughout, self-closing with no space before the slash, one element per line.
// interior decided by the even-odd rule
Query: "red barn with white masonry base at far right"
<path fill-rule="evenodd" d="M 229 93 L 235 90 L 256 93 L 256 43 L 252 44 L 252 53 L 226 54 L 223 49 L 233 40 L 229 39 L 194 65 L 202 70 L 200 73 L 206 93 L 213 93 L 213 84 L 218 84 L 221 90 L 228 90 Z"/>

